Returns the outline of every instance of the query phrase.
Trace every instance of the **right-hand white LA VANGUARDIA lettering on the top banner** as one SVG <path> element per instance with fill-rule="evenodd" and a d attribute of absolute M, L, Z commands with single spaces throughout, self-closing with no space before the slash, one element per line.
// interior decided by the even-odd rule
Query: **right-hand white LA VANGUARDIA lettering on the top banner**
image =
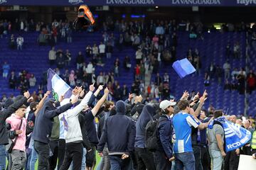
<path fill-rule="evenodd" d="M 172 0 L 172 4 L 182 4 L 182 5 L 220 5 L 220 0 Z"/>

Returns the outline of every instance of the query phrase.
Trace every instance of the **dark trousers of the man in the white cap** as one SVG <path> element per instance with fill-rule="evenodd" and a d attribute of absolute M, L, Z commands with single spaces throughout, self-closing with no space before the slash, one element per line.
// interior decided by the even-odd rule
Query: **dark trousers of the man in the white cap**
<path fill-rule="evenodd" d="M 171 162 L 166 157 L 165 152 L 156 151 L 154 152 L 154 159 L 156 162 L 156 170 L 171 170 Z"/>

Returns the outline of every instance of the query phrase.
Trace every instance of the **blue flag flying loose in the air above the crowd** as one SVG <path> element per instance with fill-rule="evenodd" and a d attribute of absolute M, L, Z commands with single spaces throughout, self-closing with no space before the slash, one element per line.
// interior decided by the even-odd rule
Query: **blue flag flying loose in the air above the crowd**
<path fill-rule="evenodd" d="M 174 62 L 172 67 L 175 69 L 179 77 L 183 78 L 186 75 L 196 72 L 196 69 L 193 67 L 191 62 L 188 59 L 184 58 L 183 60 L 177 60 Z"/>

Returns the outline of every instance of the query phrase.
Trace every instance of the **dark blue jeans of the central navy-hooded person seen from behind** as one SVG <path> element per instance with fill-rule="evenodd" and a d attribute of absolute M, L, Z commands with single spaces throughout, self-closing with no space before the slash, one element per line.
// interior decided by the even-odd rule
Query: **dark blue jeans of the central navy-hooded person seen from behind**
<path fill-rule="evenodd" d="M 110 155 L 111 170 L 130 170 L 132 169 L 131 159 L 121 159 L 121 155 Z"/>

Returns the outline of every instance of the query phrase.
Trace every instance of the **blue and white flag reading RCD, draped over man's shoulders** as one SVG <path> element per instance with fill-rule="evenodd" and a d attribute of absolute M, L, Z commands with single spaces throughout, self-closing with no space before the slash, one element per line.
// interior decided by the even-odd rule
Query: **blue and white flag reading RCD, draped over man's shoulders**
<path fill-rule="evenodd" d="M 225 133 L 225 152 L 238 149 L 251 139 L 252 135 L 249 130 L 242 128 L 240 125 L 236 125 L 226 120 L 225 117 L 220 117 L 212 120 L 208 125 L 208 128 L 212 129 L 214 122 L 218 121 L 224 128 Z"/>

